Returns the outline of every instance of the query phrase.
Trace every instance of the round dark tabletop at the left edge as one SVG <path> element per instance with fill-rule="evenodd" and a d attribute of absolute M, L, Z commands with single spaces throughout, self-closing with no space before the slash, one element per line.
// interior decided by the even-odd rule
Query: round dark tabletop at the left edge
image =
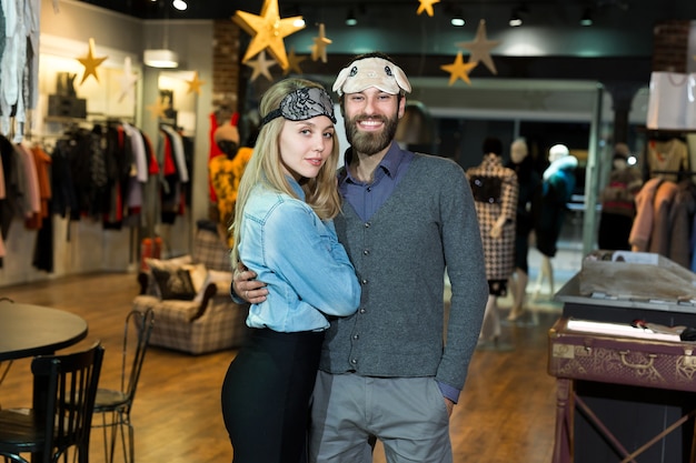
<path fill-rule="evenodd" d="M 76 314 L 0 301 L 0 361 L 52 354 L 84 338 L 87 322 Z"/>

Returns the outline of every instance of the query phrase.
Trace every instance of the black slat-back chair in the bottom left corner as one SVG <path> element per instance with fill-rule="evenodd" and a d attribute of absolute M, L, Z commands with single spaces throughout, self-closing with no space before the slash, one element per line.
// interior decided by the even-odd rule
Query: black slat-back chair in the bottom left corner
<path fill-rule="evenodd" d="M 79 463 L 89 461 L 89 433 L 99 385 L 103 348 L 96 342 L 88 350 L 63 355 L 37 356 L 32 409 L 0 411 L 0 455 L 28 463 L 20 454 L 31 453 L 32 462 L 68 462 L 68 450 Z"/>

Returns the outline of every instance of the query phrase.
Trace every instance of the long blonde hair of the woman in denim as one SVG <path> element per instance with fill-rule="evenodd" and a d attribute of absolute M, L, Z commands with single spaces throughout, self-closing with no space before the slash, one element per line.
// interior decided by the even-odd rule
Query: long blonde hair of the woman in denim
<path fill-rule="evenodd" d="M 281 80 L 270 87 L 261 97 L 259 115 L 265 118 L 269 112 L 280 107 L 280 101 L 289 93 L 302 88 L 319 88 L 319 83 L 306 79 L 290 78 Z M 245 173 L 239 182 L 237 203 L 235 205 L 235 220 L 230 225 L 235 245 L 232 246 L 232 269 L 239 263 L 238 243 L 240 240 L 241 220 L 243 210 L 251 190 L 257 184 L 262 184 L 269 190 L 298 198 L 290 188 L 280 160 L 280 132 L 286 119 L 276 118 L 260 129 L 253 154 L 245 168 Z M 338 140 L 334 138 L 334 144 L 329 159 L 314 179 L 300 180 L 305 191 L 305 200 L 321 220 L 334 219 L 341 207 L 340 195 L 336 183 L 336 169 L 338 165 Z"/>

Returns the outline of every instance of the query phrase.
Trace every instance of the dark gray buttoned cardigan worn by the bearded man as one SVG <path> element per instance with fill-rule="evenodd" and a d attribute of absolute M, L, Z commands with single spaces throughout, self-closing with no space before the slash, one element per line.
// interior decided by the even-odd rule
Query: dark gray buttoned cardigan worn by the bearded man
<path fill-rule="evenodd" d="M 416 154 L 369 222 L 345 203 L 335 220 L 362 285 L 360 308 L 331 320 L 320 369 L 435 376 L 461 390 L 488 298 L 480 231 L 464 170 Z M 445 270 L 451 306 L 445 344 Z"/>

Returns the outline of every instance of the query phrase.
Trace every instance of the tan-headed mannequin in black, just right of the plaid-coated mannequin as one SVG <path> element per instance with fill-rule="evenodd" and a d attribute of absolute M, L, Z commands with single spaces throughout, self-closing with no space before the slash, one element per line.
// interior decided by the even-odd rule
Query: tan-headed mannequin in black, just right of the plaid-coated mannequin
<path fill-rule="evenodd" d="M 529 150 L 525 139 L 517 139 L 510 145 L 510 162 L 506 165 L 517 174 L 519 194 L 517 198 L 517 213 L 515 219 L 515 270 L 510 278 L 513 308 L 508 321 L 517 321 L 525 313 L 525 298 L 529 282 L 529 234 L 533 230 L 531 199 L 541 188 L 541 177 L 534 169 Z"/>

